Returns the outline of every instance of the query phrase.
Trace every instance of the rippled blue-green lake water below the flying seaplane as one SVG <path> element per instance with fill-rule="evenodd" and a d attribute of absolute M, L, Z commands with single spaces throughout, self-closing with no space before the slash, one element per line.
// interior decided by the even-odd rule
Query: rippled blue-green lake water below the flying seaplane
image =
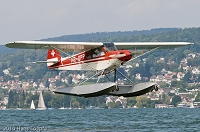
<path fill-rule="evenodd" d="M 200 131 L 199 108 L 0 110 L 0 114 L 0 131 Z"/>

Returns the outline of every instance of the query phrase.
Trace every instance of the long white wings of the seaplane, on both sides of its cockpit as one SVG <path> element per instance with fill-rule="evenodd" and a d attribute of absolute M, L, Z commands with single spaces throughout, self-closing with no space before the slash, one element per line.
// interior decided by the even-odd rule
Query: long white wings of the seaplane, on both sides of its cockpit
<path fill-rule="evenodd" d="M 59 49 L 64 52 L 82 52 L 102 46 L 102 42 L 54 42 L 54 41 L 14 41 L 8 48 L 21 49 Z M 176 48 L 191 45 L 190 42 L 113 42 L 117 49 L 144 50 L 154 48 Z"/>

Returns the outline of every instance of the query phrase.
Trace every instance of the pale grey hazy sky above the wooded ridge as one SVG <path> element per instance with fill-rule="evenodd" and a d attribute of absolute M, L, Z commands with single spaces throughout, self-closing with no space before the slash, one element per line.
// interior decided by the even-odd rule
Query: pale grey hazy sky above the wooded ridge
<path fill-rule="evenodd" d="M 0 44 L 94 32 L 200 27 L 200 0 L 1 0 Z"/>

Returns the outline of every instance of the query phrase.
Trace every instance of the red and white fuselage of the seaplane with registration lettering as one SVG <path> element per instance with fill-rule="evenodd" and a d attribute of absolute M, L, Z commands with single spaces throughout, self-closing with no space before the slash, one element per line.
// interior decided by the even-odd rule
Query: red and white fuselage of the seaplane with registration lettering
<path fill-rule="evenodd" d="M 54 50 L 51 51 L 52 53 Z M 118 50 L 90 54 L 90 51 L 81 52 L 71 57 L 60 58 L 58 63 L 48 65 L 56 70 L 112 70 L 120 67 L 132 58 L 129 50 Z"/>

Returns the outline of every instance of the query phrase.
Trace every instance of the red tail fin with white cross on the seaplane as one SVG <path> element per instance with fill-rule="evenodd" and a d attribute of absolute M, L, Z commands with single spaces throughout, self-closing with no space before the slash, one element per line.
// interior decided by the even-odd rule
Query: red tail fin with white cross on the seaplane
<path fill-rule="evenodd" d="M 57 50 L 48 50 L 47 53 L 47 66 L 50 68 L 53 66 L 55 63 L 60 62 L 61 56 L 60 52 Z"/>

